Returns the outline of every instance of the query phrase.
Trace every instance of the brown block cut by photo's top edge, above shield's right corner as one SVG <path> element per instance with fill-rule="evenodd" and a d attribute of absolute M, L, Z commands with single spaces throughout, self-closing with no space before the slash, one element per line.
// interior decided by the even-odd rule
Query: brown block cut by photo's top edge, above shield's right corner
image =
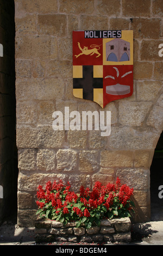
<path fill-rule="evenodd" d="M 151 16 L 151 2 L 145 1 L 122 1 L 122 15 L 125 17 L 150 17 Z"/>

